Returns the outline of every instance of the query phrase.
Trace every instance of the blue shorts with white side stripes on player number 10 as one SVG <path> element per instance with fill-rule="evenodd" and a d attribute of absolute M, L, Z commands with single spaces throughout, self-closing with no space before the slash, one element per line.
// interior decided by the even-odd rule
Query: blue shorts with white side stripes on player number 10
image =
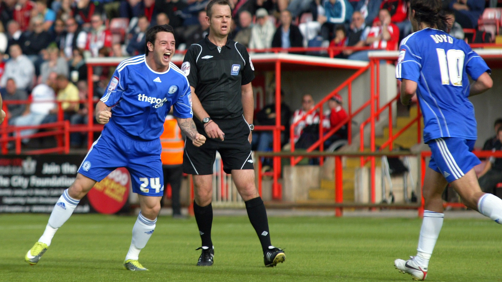
<path fill-rule="evenodd" d="M 476 140 L 442 137 L 430 140 L 432 151 L 429 168 L 442 174 L 448 183 L 453 182 L 481 162 L 472 154 Z"/>

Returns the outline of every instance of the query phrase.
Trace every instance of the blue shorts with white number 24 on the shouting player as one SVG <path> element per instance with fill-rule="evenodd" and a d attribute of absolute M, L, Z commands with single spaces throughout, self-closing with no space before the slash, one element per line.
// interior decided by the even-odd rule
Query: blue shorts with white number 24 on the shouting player
<path fill-rule="evenodd" d="M 99 182 L 116 168 L 124 167 L 131 174 L 134 193 L 162 196 L 164 174 L 161 151 L 160 139 L 132 139 L 108 125 L 92 144 L 78 173 Z"/>

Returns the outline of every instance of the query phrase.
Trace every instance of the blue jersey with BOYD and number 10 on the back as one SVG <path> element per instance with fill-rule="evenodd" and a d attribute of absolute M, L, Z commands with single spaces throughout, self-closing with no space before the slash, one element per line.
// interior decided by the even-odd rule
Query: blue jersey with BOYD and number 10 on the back
<path fill-rule="evenodd" d="M 490 73 L 463 40 L 426 28 L 401 41 L 396 78 L 417 82 L 424 116 L 424 142 L 439 137 L 477 138 L 469 78 Z"/>

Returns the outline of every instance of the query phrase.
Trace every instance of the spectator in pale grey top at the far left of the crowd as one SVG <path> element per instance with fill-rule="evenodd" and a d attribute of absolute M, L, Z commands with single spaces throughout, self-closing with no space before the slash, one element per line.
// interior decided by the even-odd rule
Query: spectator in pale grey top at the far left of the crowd
<path fill-rule="evenodd" d="M 35 67 L 32 61 L 23 55 L 18 44 L 9 47 L 11 59 L 5 64 L 4 75 L 0 79 L 0 87 L 5 87 L 8 78 L 14 78 L 19 89 L 29 89 L 33 84 Z"/>

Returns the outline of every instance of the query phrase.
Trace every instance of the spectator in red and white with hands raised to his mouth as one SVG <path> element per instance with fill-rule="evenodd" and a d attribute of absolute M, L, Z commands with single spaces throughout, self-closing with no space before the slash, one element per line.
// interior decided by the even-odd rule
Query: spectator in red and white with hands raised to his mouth
<path fill-rule="evenodd" d="M 397 50 L 399 43 L 399 28 L 391 22 L 391 14 L 387 9 L 379 12 L 379 22 L 369 30 L 366 44 L 371 49 Z M 369 61 L 369 50 L 353 53 L 348 57 L 350 60 Z"/>

